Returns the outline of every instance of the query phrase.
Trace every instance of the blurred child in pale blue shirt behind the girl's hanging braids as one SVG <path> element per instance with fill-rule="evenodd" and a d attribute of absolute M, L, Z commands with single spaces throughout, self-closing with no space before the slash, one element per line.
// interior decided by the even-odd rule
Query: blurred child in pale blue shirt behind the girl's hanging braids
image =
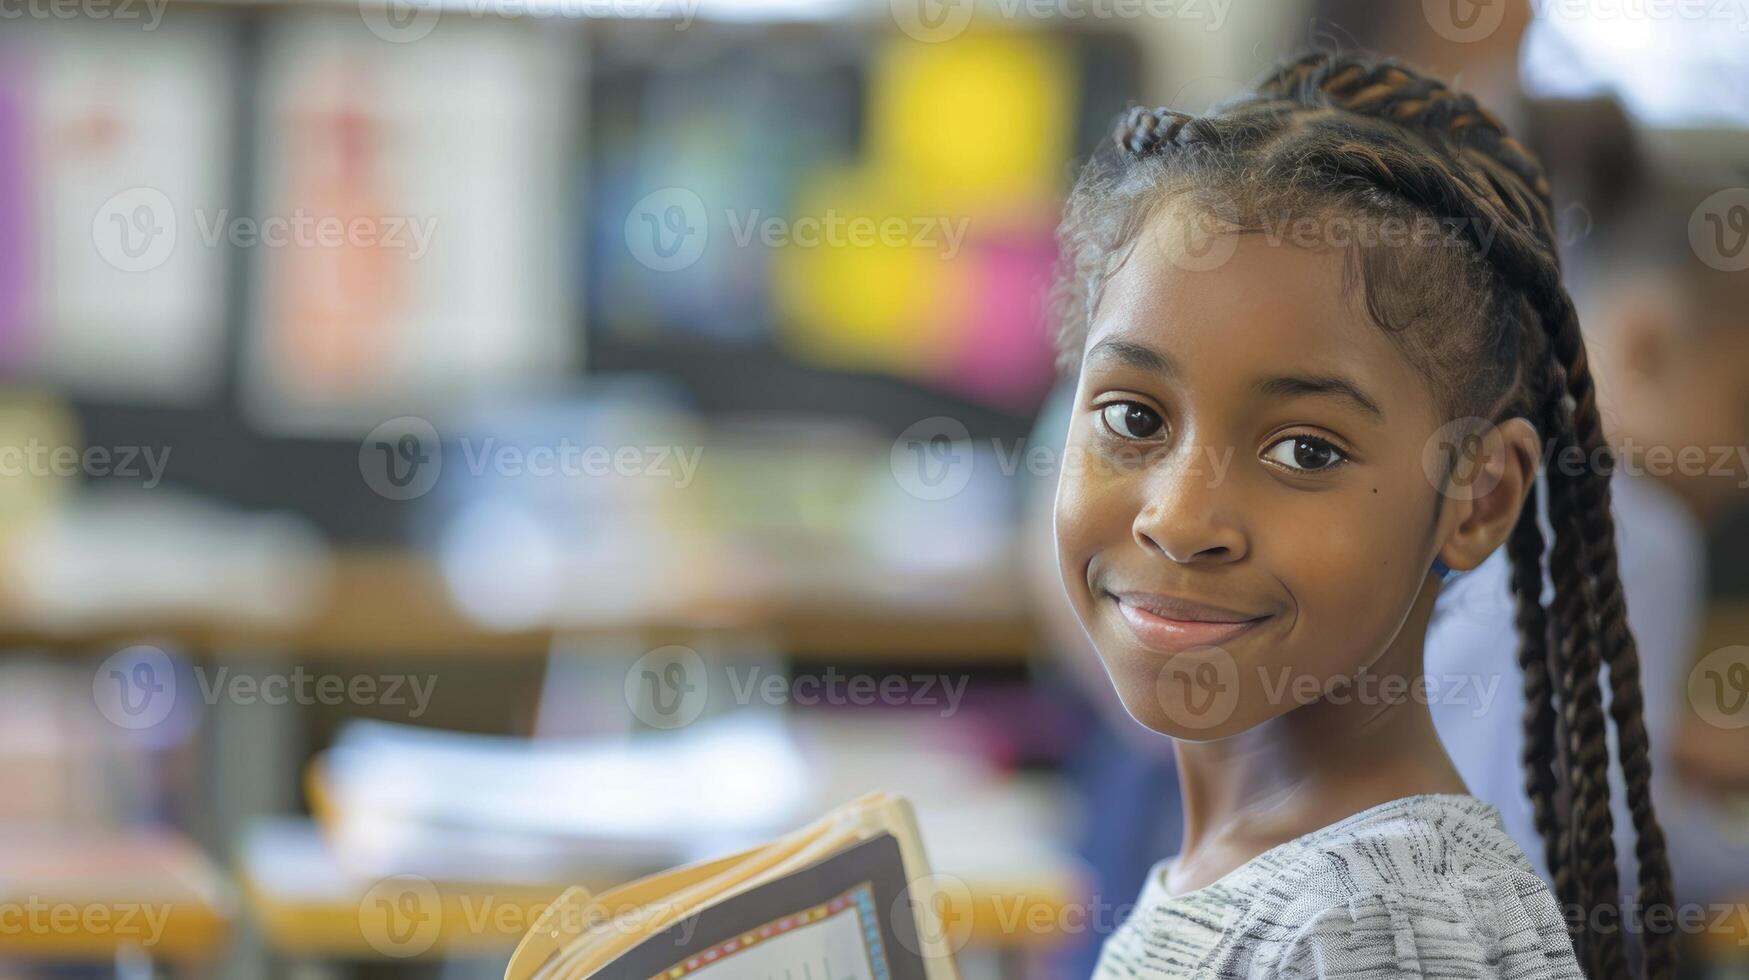
<path fill-rule="evenodd" d="M 1749 278 L 1712 268 L 1690 247 L 1690 217 L 1707 194 L 1690 178 L 1655 178 L 1620 214 L 1600 215 L 1571 256 L 1604 427 L 1618 453 L 1611 495 L 1621 584 L 1641 644 L 1653 789 L 1681 903 L 1740 898 L 1749 884 L 1749 840 L 1742 831 L 1733 838 L 1718 800 L 1749 784 L 1749 730 L 1707 724 L 1686 695 L 1705 612 L 1705 530 L 1742 506 L 1749 476 L 1740 455 L 1749 443 Z M 1679 466 L 1684 452 L 1690 464 Z M 1434 723 L 1471 791 L 1501 807 L 1508 831 L 1546 877 L 1523 777 L 1499 765 L 1523 746 L 1508 579 L 1506 555 L 1497 553 L 1441 595 L 1427 674 L 1506 679 L 1487 707 L 1436 704 Z M 1611 779 L 1620 786 L 1620 772 Z M 1620 800 L 1614 830 L 1621 882 L 1632 892 L 1632 819 Z"/>

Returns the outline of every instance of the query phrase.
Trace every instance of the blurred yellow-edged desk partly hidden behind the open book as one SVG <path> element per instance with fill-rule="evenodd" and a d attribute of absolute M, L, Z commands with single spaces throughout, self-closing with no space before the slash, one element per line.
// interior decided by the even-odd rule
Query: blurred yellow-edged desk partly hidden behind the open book
<path fill-rule="evenodd" d="M 294 959 L 509 956 L 565 887 L 605 891 L 617 880 L 539 884 L 430 882 L 418 875 L 348 875 L 315 822 L 262 819 L 238 856 L 250 912 L 276 952 Z M 1077 870 L 1021 880 L 971 880 L 967 948 L 1046 948 L 1077 928 Z"/>

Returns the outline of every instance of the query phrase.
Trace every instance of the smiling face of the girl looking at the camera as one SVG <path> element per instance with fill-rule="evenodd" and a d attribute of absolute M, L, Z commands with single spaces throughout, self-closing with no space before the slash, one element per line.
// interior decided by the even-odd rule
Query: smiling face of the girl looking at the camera
<path fill-rule="evenodd" d="M 1240 234 L 1191 271 L 1209 257 L 1167 220 L 1137 236 L 1090 326 L 1056 546 L 1130 714 L 1207 740 L 1397 640 L 1434 588 L 1441 497 L 1422 460 L 1439 424 L 1352 303 L 1340 250 Z"/>

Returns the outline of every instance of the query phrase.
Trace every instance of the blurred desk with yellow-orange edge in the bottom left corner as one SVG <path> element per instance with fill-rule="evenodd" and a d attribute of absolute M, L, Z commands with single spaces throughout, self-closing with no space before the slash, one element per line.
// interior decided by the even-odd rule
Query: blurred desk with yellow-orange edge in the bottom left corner
<path fill-rule="evenodd" d="M 0 957 L 210 961 L 226 945 L 231 891 L 177 835 L 14 831 L 0 842 Z"/>

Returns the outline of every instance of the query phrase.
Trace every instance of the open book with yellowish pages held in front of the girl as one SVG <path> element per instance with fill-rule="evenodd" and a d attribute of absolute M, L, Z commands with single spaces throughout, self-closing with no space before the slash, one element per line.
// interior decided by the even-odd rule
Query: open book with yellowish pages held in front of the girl
<path fill-rule="evenodd" d="M 911 805 L 871 793 L 770 844 L 567 889 L 505 980 L 958 980 Z"/>

